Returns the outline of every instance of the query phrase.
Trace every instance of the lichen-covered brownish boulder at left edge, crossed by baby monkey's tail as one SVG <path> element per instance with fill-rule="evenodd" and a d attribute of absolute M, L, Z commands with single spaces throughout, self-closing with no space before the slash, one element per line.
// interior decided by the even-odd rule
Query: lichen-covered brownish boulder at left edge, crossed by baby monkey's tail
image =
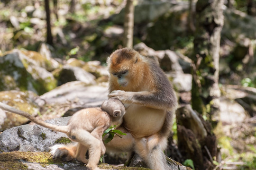
<path fill-rule="evenodd" d="M 33 100 L 37 98 L 37 94 L 27 91 L 20 92 L 16 90 L 0 92 L 0 102 L 8 104 L 19 110 L 26 111 L 32 116 L 36 116 L 39 112 L 39 107 Z M 0 109 L 0 131 L 8 128 L 23 125 L 29 120 L 23 116 Z"/>

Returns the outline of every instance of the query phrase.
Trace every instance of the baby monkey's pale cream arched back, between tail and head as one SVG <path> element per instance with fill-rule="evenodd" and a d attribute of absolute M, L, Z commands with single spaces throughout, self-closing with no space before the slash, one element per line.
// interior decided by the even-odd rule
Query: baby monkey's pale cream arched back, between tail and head
<path fill-rule="evenodd" d="M 86 108 L 77 111 L 69 120 L 70 130 L 81 128 L 91 132 L 96 127 L 104 130 L 110 127 L 110 115 L 101 108 Z"/>

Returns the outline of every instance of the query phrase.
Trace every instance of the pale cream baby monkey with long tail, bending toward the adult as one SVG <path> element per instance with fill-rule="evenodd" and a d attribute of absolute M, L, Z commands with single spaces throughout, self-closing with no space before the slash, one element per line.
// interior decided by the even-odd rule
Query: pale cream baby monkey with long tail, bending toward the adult
<path fill-rule="evenodd" d="M 101 108 L 87 108 L 77 111 L 66 126 L 46 123 L 2 102 L 0 102 L 0 108 L 24 116 L 42 127 L 65 133 L 72 141 L 78 143 L 76 151 L 73 151 L 73 154 L 75 154 L 74 156 L 78 161 L 87 164 L 86 167 L 89 170 L 100 170 L 98 163 L 101 155 L 106 152 L 102 135 L 110 125 L 120 125 L 125 114 L 123 103 L 115 98 L 104 101 L 101 104 Z M 59 148 L 60 150 L 61 148 Z M 89 151 L 89 159 L 85 158 L 87 150 Z M 60 155 L 62 152 L 52 151 L 52 153 L 55 153 L 53 158 L 62 156 Z M 72 160 L 72 157 L 70 157 L 70 160 Z M 65 161 L 70 160 L 69 157 L 65 157 Z"/>

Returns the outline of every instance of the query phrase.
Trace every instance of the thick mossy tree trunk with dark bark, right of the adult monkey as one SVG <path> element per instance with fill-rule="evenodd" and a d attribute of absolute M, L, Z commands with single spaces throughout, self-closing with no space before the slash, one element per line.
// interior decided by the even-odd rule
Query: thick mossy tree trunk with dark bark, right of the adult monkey
<path fill-rule="evenodd" d="M 224 0 L 198 0 L 192 60 L 192 108 L 219 120 L 219 43 L 223 26 Z"/>

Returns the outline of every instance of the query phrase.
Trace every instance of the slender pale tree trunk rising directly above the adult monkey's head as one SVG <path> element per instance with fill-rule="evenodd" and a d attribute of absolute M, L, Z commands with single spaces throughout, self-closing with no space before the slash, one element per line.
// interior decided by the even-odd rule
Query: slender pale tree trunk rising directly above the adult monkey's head
<path fill-rule="evenodd" d="M 133 26 L 134 26 L 134 5 L 133 0 L 127 0 L 125 6 L 124 39 L 123 46 L 132 48 L 133 46 Z"/>

